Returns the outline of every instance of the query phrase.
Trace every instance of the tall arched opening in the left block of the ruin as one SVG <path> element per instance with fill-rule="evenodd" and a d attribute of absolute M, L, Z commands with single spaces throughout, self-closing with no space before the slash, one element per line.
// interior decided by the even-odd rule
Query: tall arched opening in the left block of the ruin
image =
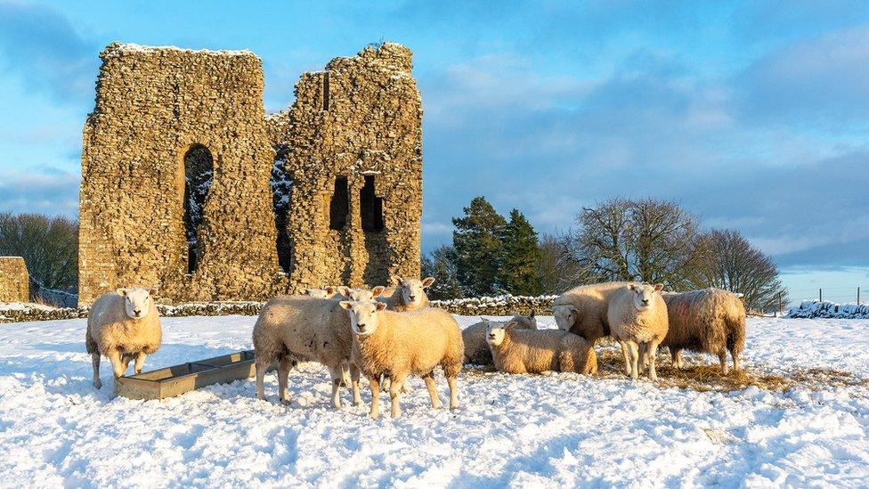
<path fill-rule="evenodd" d="M 187 238 L 187 273 L 196 272 L 202 260 L 199 224 L 208 190 L 214 181 L 214 159 L 211 151 L 194 144 L 184 154 L 184 233 Z"/>

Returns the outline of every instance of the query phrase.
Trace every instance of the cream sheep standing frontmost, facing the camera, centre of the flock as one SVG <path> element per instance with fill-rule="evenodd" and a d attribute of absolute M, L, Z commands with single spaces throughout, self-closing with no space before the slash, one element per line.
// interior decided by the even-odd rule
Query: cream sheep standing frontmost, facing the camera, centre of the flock
<path fill-rule="evenodd" d="M 379 415 L 380 376 L 386 372 L 392 380 L 389 397 L 393 418 L 401 416 L 399 396 L 408 375 L 426 381 L 432 407 L 441 409 L 435 390 L 434 370 L 441 366 L 450 386 L 450 409 L 459 408 L 456 378 L 462 366 L 465 346 L 459 323 L 443 309 L 426 307 L 399 313 L 386 310 L 378 301 L 341 301 L 353 331 L 351 361 L 369 379 L 371 418 Z M 354 386 L 358 379 L 353 379 Z"/>

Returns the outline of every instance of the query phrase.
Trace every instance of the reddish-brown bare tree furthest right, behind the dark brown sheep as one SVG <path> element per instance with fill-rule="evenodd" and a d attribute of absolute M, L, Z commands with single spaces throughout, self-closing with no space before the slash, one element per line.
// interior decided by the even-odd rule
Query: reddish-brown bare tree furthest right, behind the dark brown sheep
<path fill-rule="evenodd" d="M 695 268 L 695 288 L 740 292 L 745 306 L 755 311 L 774 311 L 780 303 L 788 303 L 787 289 L 778 278 L 775 262 L 752 247 L 738 231 L 712 230 L 703 236 L 698 248 L 703 260 Z"/>

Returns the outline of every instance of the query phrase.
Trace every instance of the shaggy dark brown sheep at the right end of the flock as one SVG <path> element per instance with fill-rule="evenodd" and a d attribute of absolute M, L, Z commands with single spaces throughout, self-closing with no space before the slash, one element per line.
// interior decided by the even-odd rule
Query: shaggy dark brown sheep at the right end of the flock
<path fill-rule="evenodd" d="M 670 330 L 660 346 L 670 348 L 673 366 L 682 368 L 682 350 L 718 355 L 721 374 L 727 375 L 727 350 L 739 371 L 745 347 L 745 306 L 735 294 L 722 289 L 664 293 Z"/>

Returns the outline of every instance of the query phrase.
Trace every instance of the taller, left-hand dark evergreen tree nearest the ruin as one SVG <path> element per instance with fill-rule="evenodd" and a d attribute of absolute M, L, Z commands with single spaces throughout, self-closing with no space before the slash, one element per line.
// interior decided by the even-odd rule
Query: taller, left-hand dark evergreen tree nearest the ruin
<path fill-rule="evenodd" d="M 501 234 L 507 221 L 484 197 L 475 197 L 464 209 L 464 217 L 453 217 L 453 263 L 466 297 L 491 296 L 499 291 L 499 265 L 504 246 Z"/>

